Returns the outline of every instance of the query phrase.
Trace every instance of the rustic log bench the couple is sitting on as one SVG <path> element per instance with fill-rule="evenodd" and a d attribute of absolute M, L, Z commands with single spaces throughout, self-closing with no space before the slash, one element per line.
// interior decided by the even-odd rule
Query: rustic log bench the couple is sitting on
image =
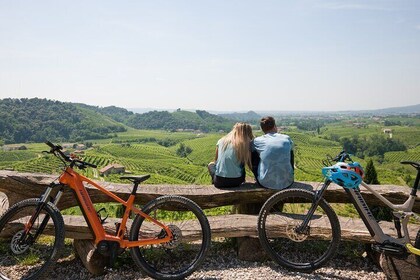
<path fill-rule="evenodd" d="M 0 171 L 0 213 L 18 201 L 29 197 L 39 197 L 48 184 L 56 178 L 57 176 L 46 174 Z M 98 183 L 123 199 L 128 198 L 132 189 L 130 184 Z M 293 187 L 313 190 L 319 185 L 319 182 L 296 182 Z M 393 185 L 380 185 L 376 186 L 376 189 L 393 203 L 403 203 L 410 193 L 410 188 L 408 187 Z M 114 202 L 95 188 L 88 187 L 88 191 L 94 203 Z M 381 205 L 381 202 L 372 194 L 365 190 L 361 192 L 369 205 Z M 252 183 L 225 190 L 203 185 L 140 185 L 137 193 L 136 203 L 140 205 L 166 194 L 190 198 L 203 209 L 235 205 L 236 211 L 231 215 L 208 217 L 212 237 L 238 237 L 240 238 L 238 242 L 239 258 L 244 260 L 261 258 L 260 254 L 263 254 L 263 252 L 259 249 L 259 241 L 256 238 L 258 235 L 256 227 L 257 214 L 261 205 L 275 193 L 274 190 L 259 188 Z M 328 188 L 324 197 L 330 203 L 349 202 L 343 189 L 335 185 L 331 185 Z M 420 213 L 419 200 L 419 198 L 416 199 L 415 209 L 413 210 L 417 213 Z M 62 210 L 73 206 L 77 206 L 76 199 L 74 199 L 71 191 L 67 190 L 61 198 L 58 208 Z M 86 241 L 91 240 L 93 237 L 84 218 L 81 216 L 65 216 L 64 219 L 66 237 L 75 240 L 75 249 L 89 271 L 94 274 L 100 274 L 105 263 L 103 260 L 100 260 L 100 255 L 94 252 L 93 243 Z M 115 220 L 109 218 L 104 227 L 111 233 L 115 231 L 114 224 Z M 343 240 L 364 243 L 373 242 L 361 219 L 340 217 L 340 224 Z M 382 228 L 386 233 L 392 234 L 394 232 L 393 223 L 382 222 Z M 415 238 L 417 230 L 418 227 L 410 227 L 410 236 L 412 238 Z M 249 254 L 249 252 L 253 253 Z M 256 252 L 260 252 L 260 254 Z"/>

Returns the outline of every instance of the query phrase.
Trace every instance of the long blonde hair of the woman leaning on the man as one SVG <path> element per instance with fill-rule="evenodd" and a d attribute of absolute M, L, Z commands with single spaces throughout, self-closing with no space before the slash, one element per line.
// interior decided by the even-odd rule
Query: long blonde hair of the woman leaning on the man
<path fill-rule="evenodd" d="M 252 128 L 247 123 L 236 123 L 231 132 L 223 137 L 223 150 L 231 144 L 240 163 L 247 164 L 251 168 L 251 140 L 254 139 Z"/>

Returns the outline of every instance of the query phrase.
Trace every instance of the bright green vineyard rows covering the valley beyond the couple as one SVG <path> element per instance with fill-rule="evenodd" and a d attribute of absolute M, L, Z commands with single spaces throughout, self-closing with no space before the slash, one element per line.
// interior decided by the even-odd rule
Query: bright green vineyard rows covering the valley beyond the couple
<path fill-rule="evenodd" d="M 407 176 L 414 177 L 414 171 L 399 164 L 402 160 L 420 161 L 420 128 L 395 126 L 393 137 L 404 142 L 408 149 L 403 152 L 387 152 L 382 161 L 375 161 L 379 181 L 382 184 L 404 185 Z M 326 155 L 336 155 L 342 147 L 339 142 L 328 140 L 334 135 L 359 137 L 381 134 L 382 127 L 376 123 L 366 123 L 355 128 L 351 122 L 334 123 L 323 127 L 321 134 L 302 132 L 296 128 L 285 131 L 295 145 L 295 179 L 297 181 L 322 181 L 321 168 Z M 255 132 L 261 135 L 260 131 Z M 168 132 L 128 129 L 111 139 L 90 140 L 93 147 L 84 151 L 83 160 L 98 166 L 97 170 L 83 170 L 86 176 L 122 182 L 118 174 L 107 178 L 99 176 L 98 170 L 118 163 L 130 174 L 151 174 L 150 184 L 209 184 L 207 164 L 214 159 L 216 142 L 224 134 L 195 134 L 192 132 Z M 191 149 L 186 157 L 177 155 L 183 144 Z M 0 168 L 25 172 L 58 173 L 60 162 L 52 156 L 41 153 L 46 150 L 42 143 L 25 144 L 25 151 L 1 151 Z M 362 165 L 365 160 L 353 157 Z M 252 180 L 248 171 L 247 178 Z M 408 178 L 408 179 L 407 179 Z"/>

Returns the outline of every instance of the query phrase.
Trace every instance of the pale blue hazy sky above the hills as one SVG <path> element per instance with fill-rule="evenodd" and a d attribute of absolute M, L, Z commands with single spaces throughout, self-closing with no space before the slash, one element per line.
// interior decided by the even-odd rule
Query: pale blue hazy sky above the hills
<path fill-rule="evenodd" d="M 125 108 L 420 104 L 420 1 L 0 0 L 0 98 Z"/>

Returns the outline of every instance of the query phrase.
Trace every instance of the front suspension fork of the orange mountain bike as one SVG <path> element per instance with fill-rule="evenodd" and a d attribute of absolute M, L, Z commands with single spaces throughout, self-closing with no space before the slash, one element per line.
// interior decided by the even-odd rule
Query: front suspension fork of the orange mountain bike
<path fill-rule="evenodd" d="M 51 191 L 56 188 L 59 187 L 60 189 L 58 190 L 57 194 L 55 195 L 55 197 L 50 197 Z M 22 235 L 21 237 L 21 241 L 23 241 L 25 239 L 25 237 L 30 236 L 29 232 L 32 229 L 33 224 L 35 223 L 35 220 L 38 218 L 39 214 L 41 213 L 42 209 L 45 207 L 45 205 L 48 204 L 48 202 L 53 203 L 54 205 L 57 205 L 58 202 L 60 201 L 61 196 L 63 195 L 63 190 L 64 190 L 64 186 L 61 184 L 56 184 L 56 183 L 51 183 L 48 188 L 45 190 L 45 192 L 42 194 L 42 196 L 39 199 L 39 203 L 38 206 L 35 210 L 35 213 L 31 216 L 31 219 L 29 220 L 29 222 L 25 225 L 25 234 Z M 44 232 L 45 227 L 48 224 L 48 221 L 50 220 L 50 215 L 45 214 L 44 219 L 41 222 L 41 225 L 38 227 L 37 231 L 35 232 L 34 236 L 30 236 L 30 240 L 28 240 L 29 242 L 34 242 L 35 240 L 37 240 L 38 236 Z"/>

